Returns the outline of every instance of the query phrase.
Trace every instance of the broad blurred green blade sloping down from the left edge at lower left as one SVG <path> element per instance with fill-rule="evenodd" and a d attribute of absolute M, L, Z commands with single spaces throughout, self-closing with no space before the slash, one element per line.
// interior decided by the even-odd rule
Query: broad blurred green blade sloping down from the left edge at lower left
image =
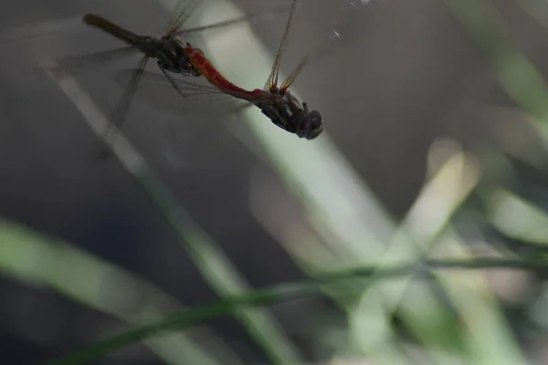
<path fill-rule="evenodd" d="M 183 308 L 174 297 L 121 267 L 72 245 L 38 235 L 22 224 L 2 220 L 0 274 L 30 286 L 51 287 L 88 308 L 133 325 L 159 318 L 165 311 Z M 111 283 L 115 284 L 109 285 Z M 203 349 L 201 343 L 209 346 Z M 205 328 L 173 333 L 162 339 L 150 338 L 145 345 L 174 365 L 189 362 L 216 365 L 216 356 L 223 359 L 223 364 L 241 364 L 222 339 Z"/>

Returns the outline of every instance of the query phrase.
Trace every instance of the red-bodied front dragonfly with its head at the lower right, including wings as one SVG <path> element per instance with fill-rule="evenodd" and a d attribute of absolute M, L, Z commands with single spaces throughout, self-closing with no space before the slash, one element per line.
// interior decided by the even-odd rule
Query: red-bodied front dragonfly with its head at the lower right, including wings
<path fill-rule="evenodd" d="M 185 47 L 186 59 L 193 65 L 195 71 L 206 78 L 213 86 L 207 88 L 202 85 L 183 79 L 176 79 L 171 82 L 171 87 L 177 90 L 177 93 L 185 99 L 189 109 L 194 108 L 198 103 L 204 103 L 206 107 L 216 107 L 222 104 L 226 99 L 235 98 L 244 100 L 244 106 L 255 105 L 266 115 L 276 126 L 282 130 L 296 134 L 300 138 L 314 140 L 319 137 L 323 131 L 323 120 L 318 110 L 311 110 L 306 102 L 301 102 L 290 92 L 290 87 L 300 75 L 305 65 L 315 57 L 324 55 L 326 50 L 330 52 L 333 42 L 346 32 L 348 27 L 355 25 L 356 20 L 364 15 L 364 9 L 370 5 L 376 4 L 376 0 L 342 0 L 342 16 L 337 19 L 330 29 L 330 33 L 325 37 L 327 42 L 319 47 L 312 49 L 301 58 L 297 67 L 290 75 L 279 84 L 279 69 L 284 51 L 288 46 L 290 32 L 295 22 L 295 16 L 302 0 L 291 0 L 290 14 L 285 24 L 285 29 L 279 43 L 276 57 L 270 70 L 269 77 L 262 89 L 245 90 L 227 80 L 212 63 L 206 59 L 202 52 L 196 51 L 192 47 Z M 363 20 L 363 19 L 360 19 Z M 129 70 L 118 72 L 119 83 L 127 82 Z M 156 99 L 158 104 L 165 105 L 164 93 L 160 91 L 159 86 L 166 87 L 165 80 L 160 75 L 144 72 L 143 82 L 147 84 L 147 99 Z M 175 84 L 175 85 L 174 85 Z M 164 88 L 165 89 L 165 88 Z M 160 91 L 160 92 L 158 92 Z M 225 98 L 222 97 L 225 95 Z M 215 101 L 215 105 L 213 100 Z M 182 100 L 174 101 L 176 104 L 184 104 Z M 182 110 L 179 108 L 178 110 Z"/>

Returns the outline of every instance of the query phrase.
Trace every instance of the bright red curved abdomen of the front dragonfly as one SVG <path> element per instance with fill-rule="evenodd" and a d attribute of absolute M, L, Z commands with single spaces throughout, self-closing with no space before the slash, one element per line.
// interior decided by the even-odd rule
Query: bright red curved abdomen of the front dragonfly
<path fill-rule="evenodd" d="M 207 59 L 202 52 L 194 47 L 184 47 L 184 54 L 188 57 L 188 60 L 192 63 L 192 66 L 194 66 L 204 78 L 207 78 L 211 84 L 215 85 L 227 94 L 233 95 L 240 99 L 247 99 L 249 101 L 265 97 L 264 91 L 261 89 L 249 91 L 228 81 L 227 78 L 216 70 L 209 59 Z"/>

